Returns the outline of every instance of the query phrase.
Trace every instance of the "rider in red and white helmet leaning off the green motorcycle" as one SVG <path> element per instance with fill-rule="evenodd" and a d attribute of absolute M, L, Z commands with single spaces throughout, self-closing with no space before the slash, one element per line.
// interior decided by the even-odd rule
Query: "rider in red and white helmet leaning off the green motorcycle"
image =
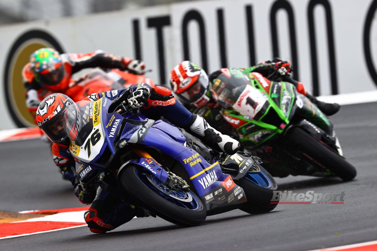
<path fill-rule="evenodd" d="M 218 131 L 227 131 L 228 135 L 238 138 L 234 125 L 227 120 L 221 111 L 221 106 L 212 90 L 212 86 L 216 87 L 216 78 L 221 73 L 226 73 L 232 68 L 222 68 L 211 73 L 209 76 L 198 65 L 183 61 L 176 65 L 170 73 L 170 85 L 176 96 L 179 97 L 185 106 L 190 106 L 192 111 L 204 117 Z M 337 103 L 325 103 L 316 99 L 316 97 L 305 91 L 303 84 L 291 77 L 293 67 L 288 61 L 282 61 L 280 58 L 273 58 L 272 61 L 263 61 L 260 64 L 249 68 L 238 68 L 245 76 L 253 73 L 255 77 L 264 85 L 270 85 L 271 81 L 285 81 L 292 83 L 296 90 L 308 97 L 324 114 L 331 116 L 340 109 Z M 268 77 L 268 78 L 267 78 Z M 211 84 L 210 84 L 211 83 Z M 211 86 L 212 85 L 212 86 Z"/>

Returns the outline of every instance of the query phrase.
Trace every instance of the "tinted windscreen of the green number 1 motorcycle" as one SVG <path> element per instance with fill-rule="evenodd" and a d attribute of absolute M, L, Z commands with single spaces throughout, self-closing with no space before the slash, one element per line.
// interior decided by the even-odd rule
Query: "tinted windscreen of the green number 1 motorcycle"
<path fill-rule="evenodd" d="M 250 79 L 238 70 L 222 69 L 222 71 L 213 80 L 212 93 L 222 107 L 231 109 L 250 84 Z"/>

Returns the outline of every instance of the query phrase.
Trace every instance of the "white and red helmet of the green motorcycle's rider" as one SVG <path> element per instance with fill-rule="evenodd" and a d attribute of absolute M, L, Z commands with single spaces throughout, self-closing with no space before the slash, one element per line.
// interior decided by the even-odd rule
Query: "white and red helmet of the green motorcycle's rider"
<path fill-rule="evenodd" d="M 211 85 L 207 73 L 190 61 L 183 61 L 172 69 L 170 85 L 185 104 L 202 107 L 210 100 Z"/>

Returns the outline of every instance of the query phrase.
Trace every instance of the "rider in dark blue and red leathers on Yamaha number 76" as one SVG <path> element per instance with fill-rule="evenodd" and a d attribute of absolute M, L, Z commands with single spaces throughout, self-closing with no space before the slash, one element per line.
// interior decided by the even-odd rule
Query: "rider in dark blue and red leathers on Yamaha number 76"
<path fill-rule="evenodd" d="M 38 125 L 48 138 L 54 141 L 52 151 L 55 164 L 74 185 L 75 195 L 80 202 L 92 204 L 84 214 L 90 231 L 105 233 L 130 221 L 135 216 L 149 216 L 146 210 L 115 198 L 95 184 L 83 184 L 78 180 L 75 160 L 68 149 L 69 139 L 63 129 L 67 106 L 72 104 L 73 101 L 64 94 L 59 94 L 63 95 L 60 96 L 63 98 L 58 101 L 56 95 L 52 94 L 46 97 L 38 106 Z M 113 103 L 126 101 L 132 108 L 138 107 L 140 112 L 150 119 L 157 120 L 164 117 L 173 125 L 185 129 L 217 151 L 234 154 L 240 147 L 237 140 L 216 131 L 201 116 L 190 113 L 181 103 L 176 101 L 172 92 L 165 87 L 151 88 L 147 84 L 140 83 L 125 90 L 94 93 L 84 100 L 95 101 L 101 97 L 107 97 L 113 100 Z M 60 102 L 55 104 L 56 109 L 54 102 Z M 62 105 L 63 103 L 64 105 Z M 52 109 L 49 109 L 49 106 Z M 59 139 L 55 140 L 55 138 Z"/>

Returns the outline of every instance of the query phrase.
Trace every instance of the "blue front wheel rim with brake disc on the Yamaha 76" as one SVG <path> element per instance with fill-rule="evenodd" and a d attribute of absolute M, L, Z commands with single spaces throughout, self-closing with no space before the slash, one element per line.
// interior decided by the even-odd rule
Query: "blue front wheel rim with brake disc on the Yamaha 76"
<path fill-rule="evenodd" d="M 193 211 L 199 210 L 201 208 L 200 202 L 191 191 L 189 192 L 189 195 L 187 195 L 187 193 L 183 190 L 170 190 L 168 187 L 164 186 L 164 184 L 156 176 L 150 174 L 149 172 L 143 169 L 137 168 L 136 176 L 150 190 L 152 190 L 162 198 L 166 199 L 167 201 L 175 205 L 178 205 L 179 207 L 183 207 Z M 189 199 L 190 197 L 192 198 L 191 200 Z M 187 201 L 184 201 L 185 199 Z"/>

